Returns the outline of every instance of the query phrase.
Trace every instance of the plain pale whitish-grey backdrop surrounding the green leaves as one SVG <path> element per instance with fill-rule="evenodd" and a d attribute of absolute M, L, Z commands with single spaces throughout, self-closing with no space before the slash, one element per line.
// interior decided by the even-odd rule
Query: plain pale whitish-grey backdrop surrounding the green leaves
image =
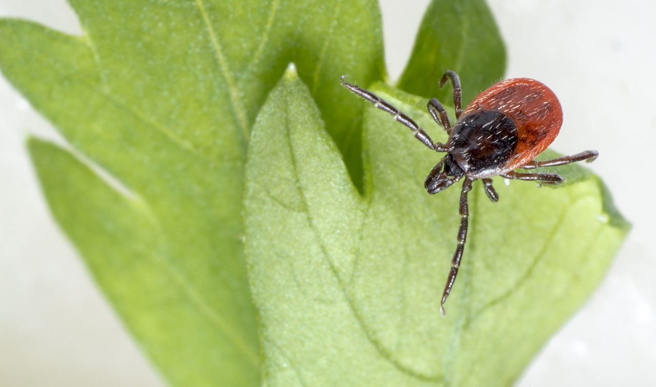
<path fill-rule="evenodd" d="M 398 79 L 428 0 L 380 2 Z M 565 123 L 554 149 L 599 150 L 590 167 L 634 226 L 600 289 L 518 386 L 656 385 L 656 2 L 489 2 L 508 48 L 506 76 L 556 92 Z M 64 0 L 0 0 L 0 16 L 80 33 Z M 0 78 L 0 385 L 163 386 L 54 224 L 28 132 L 58 138 Z"/>

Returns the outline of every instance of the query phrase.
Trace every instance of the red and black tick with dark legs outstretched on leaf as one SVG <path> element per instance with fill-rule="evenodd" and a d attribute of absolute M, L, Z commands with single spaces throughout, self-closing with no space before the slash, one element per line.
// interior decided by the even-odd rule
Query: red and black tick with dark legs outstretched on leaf
<path fill-rule="evenodd" d="M 428 112 L 449 135 L 446 144 L 433 142 L 415 121 L 401 113 L 373 92 L 344 82 L 342 85 L 371 102 L 375 107 L 390 113 L 396 121 L 408 127 L 415 138 L 435 152 L 446 155 L 428 173 L 424 188 L 428 194 L 449 188 L 462 180 L 459 212 L 458 245 L 451 260 L 451 271 L 442 293 L 440 314 L 445 316 L 446 302 L 460 268 L 464 243 L 467 239 L 469 208 L 467 194 L 474 180 L 483 180 L 483 189 L 493 202 L 499 195 L 492 186 L 493 176 L 512 180 L 529 180 L 542 184 L 560 184 L 562 177 L 555 173 L 523 173 L 516 169 L 554 167 L 577 161 L 593 161 L 598 152 L 586 150 L 571 156 L 547 161 L 535 161 L 535 157 L 551 144 L 563 123 L 563 110 L 556 94 L 543 83 L 529 78 L 513 78 L 501 81 L 483 91 L 462 110 L 462 89 L 458 74 L 447 71 L 440 79 L 440 87 L 447 81 L 453 85 L 453 106 L 456 122 L 452 127 L 447 112 L 436 98 L 428 101 Z"/>

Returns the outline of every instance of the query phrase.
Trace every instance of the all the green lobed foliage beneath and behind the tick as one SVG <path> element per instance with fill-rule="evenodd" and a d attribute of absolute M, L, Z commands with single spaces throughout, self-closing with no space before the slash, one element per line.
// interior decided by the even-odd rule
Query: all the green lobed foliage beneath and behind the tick
<path fill-rule="evenodd" d="M 444 140 L 425 99 L 375 83 L 374 1 L 71 4 L 81 37 L 0 20 L 0 70 L 70 144 L 28 142 L 52 213 L 174 386 L 508 385 L 626 233 L 582 167 L 495 180 L 499 203 L 476 183 L 441 319 L 459 190 L 426 194 L 439 155 L 339 83 Z M 502 75 L 482 1 L 434 1 L 418 42 L 406 91 L 445 96 L 451 68 L 470 100 Z"/>

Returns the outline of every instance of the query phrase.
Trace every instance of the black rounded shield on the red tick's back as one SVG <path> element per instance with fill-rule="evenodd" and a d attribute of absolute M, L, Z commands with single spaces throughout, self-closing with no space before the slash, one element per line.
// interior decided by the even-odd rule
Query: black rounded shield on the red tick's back
<path fill-rule="evenodd" d="M 467 176 L 485 178 L 502 173 L 517 144 L 517 127 L 510 117 L 479 110 L 460 117 L 447 148 Z"/>

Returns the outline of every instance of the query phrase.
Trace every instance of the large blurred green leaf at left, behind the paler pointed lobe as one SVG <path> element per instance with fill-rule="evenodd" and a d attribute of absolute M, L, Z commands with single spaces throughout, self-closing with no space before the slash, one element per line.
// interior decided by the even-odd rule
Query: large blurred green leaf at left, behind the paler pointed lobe
<path fill-rule="evenodd" d="M 70 3 L 81 37 L 0 20 L 0 70 L 84 160 L 49 165 L 49 148 L 33 146 L 53 214 L 171 384 L 258 385 L 256 310 L 241 240 L 250 128 L 295 60 L 361 181 L 354 117 L 362 106 L 337 100 L 338 79 L 344 72 L 366 83 L 382 78 L 377 3 Z M 352 33 L 363 41 L 355 43 Z M 72 170 L 85 165 L 112 184 L 85 170 L 77 187 L 68 186 Z M 97 197 L 125 192 L 140 211 L 129 200 L 121 204 L 127 209 L 94 210 L 102 220 L 62 210 L 77 205 L 84 190 Z M 100 199 L 89 200 L 101 207 Z M 148 228 L 122 230 L 133 217 Z M 116 274 L 123 271 L 134 275 L 124 281 Z"/>

